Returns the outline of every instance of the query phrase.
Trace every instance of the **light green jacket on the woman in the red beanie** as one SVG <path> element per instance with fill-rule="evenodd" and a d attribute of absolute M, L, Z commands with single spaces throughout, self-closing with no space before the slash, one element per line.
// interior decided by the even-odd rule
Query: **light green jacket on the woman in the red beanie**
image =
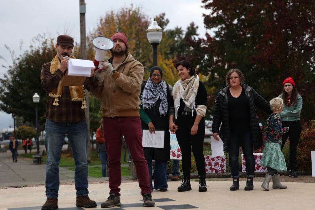
<path fill-rule="evenodd" d="M 282 98 L 282 94 L 279 95 L 279 98 Z M 301 110 L 303 105 L 303 99 L 300 94 L 297 94 L 297 102 L 294 104 L 291 104 L 291 106 L 287 106 L 284 102 L 283 104 L 283 110 L 280 113 L 281 121 L 298 121 L 301 117 Z"/>

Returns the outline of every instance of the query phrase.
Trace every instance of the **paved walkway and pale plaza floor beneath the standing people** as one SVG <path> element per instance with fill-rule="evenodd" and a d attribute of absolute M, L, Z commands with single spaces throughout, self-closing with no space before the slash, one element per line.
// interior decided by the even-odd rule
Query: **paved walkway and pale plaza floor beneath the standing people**
<path fill-rule="evenodd" d="M 24 151 L 19 150 L 19 153 Z M 0 153 L 0 209 L 40 209 L 45 196 L 46 164 L 34 164 L 30 159 L 18 157 L 12 162 L 11 153 Z M 207 177 L 215 177 L 207 174 Z M 299 175 L 298 178 L 282 176 L 287 189 L 261 188 L 263 177 L 254 178 L 254 190 L 245 191 L 245 178 L 240 178 L 240 190 L 230 191 L 231 178 L 207 178 L 207 192 L 198 192 L 198 182 L 192 179 L 192 190 L 177 192 L 181 181 L 169 181 L 169 190 L 152 192 L 156 207 L 150 209 L 314 209 L 315 177 Z M 75 207 L 74 172 L 60 168 L 59 208 L 84 209 Z M 26 187 L 27 186 L 27 187 Z M 140 209 L 142 196 L 137 180 L 125 177 L 121 186 L 122 206 L 107 209 Z M 109 196 L 108 178 L 89 177 L 89 196 L 100 204 Z M 88 208 L 85 208 L 88 209 Z"/>

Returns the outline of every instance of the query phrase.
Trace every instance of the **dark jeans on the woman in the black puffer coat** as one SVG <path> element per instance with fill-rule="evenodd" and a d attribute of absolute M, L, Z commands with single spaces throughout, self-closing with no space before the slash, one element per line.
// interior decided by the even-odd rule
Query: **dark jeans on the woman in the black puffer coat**
<path fill-rule="evenodd" d="M 231 176 L 238 178 L 238 155 L 239 146 L 242 145 L 243 154 L 246 164 L 246 177 L 254 177 L 255 158 L 253 153 L 253 141 L 251 132 L 247 133 L 230 133 L 229 140 L 229 164 Z"/>

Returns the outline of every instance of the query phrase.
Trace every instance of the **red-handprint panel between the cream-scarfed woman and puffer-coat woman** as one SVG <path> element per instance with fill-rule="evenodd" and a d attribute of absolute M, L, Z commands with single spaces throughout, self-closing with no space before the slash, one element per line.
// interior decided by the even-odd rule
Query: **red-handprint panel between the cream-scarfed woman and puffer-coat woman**
<path fill-rule="evenodd" d="M 205 155 L 204 160 L 206 161 L 206 173 L 226 173 L 225 155 L 217 157 Z"/>

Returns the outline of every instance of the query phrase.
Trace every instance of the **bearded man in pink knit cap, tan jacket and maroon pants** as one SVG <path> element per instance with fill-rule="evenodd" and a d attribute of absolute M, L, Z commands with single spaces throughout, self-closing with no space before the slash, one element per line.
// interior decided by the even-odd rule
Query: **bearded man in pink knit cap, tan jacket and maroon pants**
<path fill-rule="evenodd" d="M 120 206 L 121 146 L 122 135 L 128 145 L 139 180 L 144 200 L 143 206 L 153 207 L 148 165 L 142 147 L 142 129 L 139 115 L 140 86 L 143 80 L 143 65 L 128 53 L 125 34 L 116 33 L 112 57 L 103 64 L 102 71 L 95 71 L 86 82 L 86 88 L 100 99 L 103 111 L 103 133 L 108 154 L 110 196 L 101 207 Z M 104 72 L 104 73 L 103 73 Z"/>

